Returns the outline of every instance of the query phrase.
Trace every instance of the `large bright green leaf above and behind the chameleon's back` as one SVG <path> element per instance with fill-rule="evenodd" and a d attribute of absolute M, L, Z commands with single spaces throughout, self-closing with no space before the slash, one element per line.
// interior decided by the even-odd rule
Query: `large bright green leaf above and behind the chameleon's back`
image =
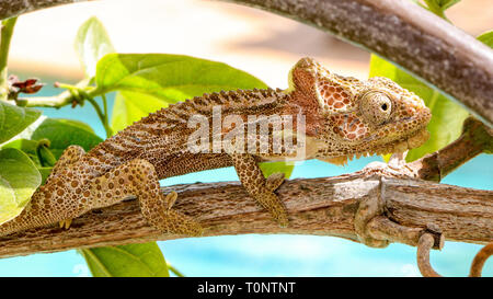
<path fill-rule="evenodd" d="M 98 64 L 95 81 L 98 93 L 119 91 L 112 113 L 114 131 L 169 103 L 221 90 L 266 88 L 226 64 L 167 54 L 106 55 Z"/>

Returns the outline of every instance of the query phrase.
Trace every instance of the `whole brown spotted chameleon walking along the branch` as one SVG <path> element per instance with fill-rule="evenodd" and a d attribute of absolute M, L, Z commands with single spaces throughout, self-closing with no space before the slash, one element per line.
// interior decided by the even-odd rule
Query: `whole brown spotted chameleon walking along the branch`
<path fill-rule="evenodd" d="M 202 134 L 206 139 L 233 130 L 232 124 L 214 129 L 215 107 L 221 112 L 219 122 L 228 116 L 249 123 L 252 115 L 283 115 L 302 119 L 303 126 L 294 122 L 291 127 L 270 126 L 263 135 L 249 131 L 248 140 L 254 145 L 267 138 L 263 139 L 268 140 L 263 150 L 210 151 L 213 142 L 202 151 L 191 151 L 190 138 L 197 133 L 190 125 L 193 115 L 213 124 Z M 275 193 L 284 174 L 264 177 L 260 162 L 320 159 L 344 164 L 354 157 L 404 152 L 428 139 L 429 119 L 423 100 L 390 79 L 363 81 L 339 76 L 312 58 L 301 58 L 289 71 L 286 90 L 236 90 L 195 96 L 151 113 L 88 152 L 79 146 L 68 147 L 21 214 L 0 225 L 0 237 L 55 223 L 68 229 L 73 218 L 130 197 L 138 199 L 145 219 L 161 233 L 202 235 L 204 229 L 198 221 L 173 209 L 177 194 L 163 194 L 159 180 L 226 166 L 234 166 L 248 194 L 274 221 L 286 227 L 288 215 Z M 295 135 L 295 129 L 301 135 Z M 271 139 L 278 135 L 291 135 L 303 142 L 291 148 L 275 146 Z M 246 147 L 238 145 L 240 149 Z"/>

